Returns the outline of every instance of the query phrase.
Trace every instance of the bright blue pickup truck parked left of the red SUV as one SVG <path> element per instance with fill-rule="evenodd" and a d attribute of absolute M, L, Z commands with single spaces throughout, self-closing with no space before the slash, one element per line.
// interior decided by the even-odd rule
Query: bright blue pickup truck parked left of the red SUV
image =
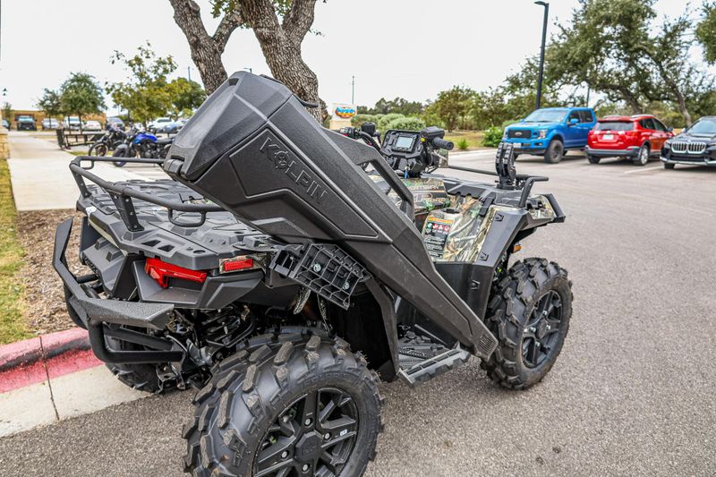
<path fill-rule="evenodd" d="M 596 123 L 589 107 L 543 107 L 507 126 L 502 141 L 513 143 L 518 155 L 544 156 L 544 162 L 557 164 L 567 150 L 586 147 Z"/>

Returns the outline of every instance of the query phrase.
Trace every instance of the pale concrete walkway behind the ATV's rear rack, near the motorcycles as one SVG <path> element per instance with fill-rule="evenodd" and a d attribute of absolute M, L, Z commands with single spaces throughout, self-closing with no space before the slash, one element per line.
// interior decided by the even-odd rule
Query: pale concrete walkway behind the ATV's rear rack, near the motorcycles
<path fill-rule="evenodd" d="M 70 173 L 72 154 L 59 149 L 50 141 L 12 131 L 10 141 L 10 179 L 13 198 L 18 211 L 74 209 L 80 192 Z M 95 174 L 108 181 L 144 179 L 107 164 L 97 164 Z"/>

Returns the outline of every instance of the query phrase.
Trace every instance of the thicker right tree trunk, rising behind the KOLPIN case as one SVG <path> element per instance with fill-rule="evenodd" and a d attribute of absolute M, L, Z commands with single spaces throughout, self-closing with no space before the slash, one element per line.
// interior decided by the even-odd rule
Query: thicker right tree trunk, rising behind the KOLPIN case
<path fill-rule="evenodd" d="M 271 0 L 240 0 L 241 13 L 259 40 L 271 74 L 308 103 L 309 113 L 322 123 L 325 103 L 319 98 L 316 73 L 303 62 L 301 43 L 313 24 L 316 0 L 294 0 L 283 24 L 278 22 Z"/>

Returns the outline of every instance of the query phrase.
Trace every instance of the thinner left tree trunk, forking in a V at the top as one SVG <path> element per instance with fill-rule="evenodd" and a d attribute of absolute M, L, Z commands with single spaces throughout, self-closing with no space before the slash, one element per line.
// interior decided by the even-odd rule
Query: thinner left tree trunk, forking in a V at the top
<path fill-rule="evenodd" d="M 199 69 L 201 82 L 207 94 L 213 93 L 226 81 L 226 69 L 221 61 L 226 41 L 243 20 L 240 13 L 232 11 L 221 19 L 214 36 L 209 36 L 201 21 L 199 5 L 193 0 L 169 0 L 174 8 L 174 19 L 189 42 L 192 61 Z"/>

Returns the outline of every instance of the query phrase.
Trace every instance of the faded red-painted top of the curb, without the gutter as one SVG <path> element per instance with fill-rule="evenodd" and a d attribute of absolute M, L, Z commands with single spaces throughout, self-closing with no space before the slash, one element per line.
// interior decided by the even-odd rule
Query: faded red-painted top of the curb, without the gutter
<path fill-rule="evenodd" d="M 64 353 L 89 350 L 87 330 L 72 328 L 0 346 L 0 372 L 27 367 Z M 43 356 L 44 353 L 44 356 Z"/>

